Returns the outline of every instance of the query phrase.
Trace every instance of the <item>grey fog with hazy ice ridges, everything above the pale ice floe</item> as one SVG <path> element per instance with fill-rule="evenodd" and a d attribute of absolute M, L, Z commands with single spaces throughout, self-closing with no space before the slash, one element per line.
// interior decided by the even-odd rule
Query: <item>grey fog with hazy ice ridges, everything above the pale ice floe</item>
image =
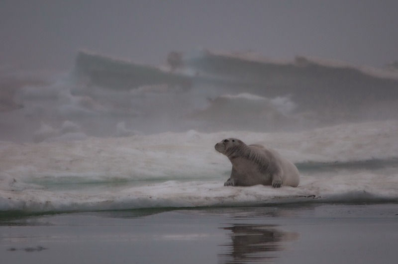
<path fill-rule="evenodd" d="M 398 118 L 396 1 L 0 3 L 0 140 Z"/>

